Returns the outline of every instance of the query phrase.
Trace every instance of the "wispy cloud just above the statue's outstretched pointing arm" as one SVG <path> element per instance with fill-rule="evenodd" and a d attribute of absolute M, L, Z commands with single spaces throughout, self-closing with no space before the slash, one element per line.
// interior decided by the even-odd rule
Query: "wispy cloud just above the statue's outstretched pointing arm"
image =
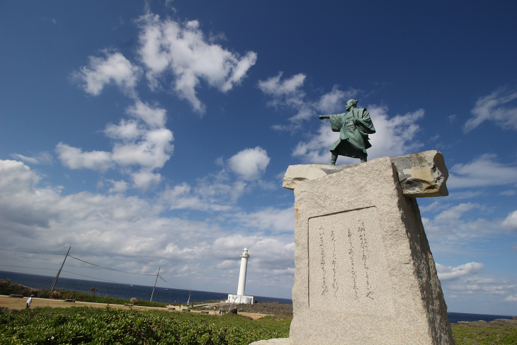
<path fill-rule="evenodd" d="M 347 91 L 339 90 L 334 85 L 332 91 L 322 95 L 315 101 L 306 99 L 305 91 L 302 86 L 305 81 L 305 74 L 295 74 L 290 78 L 282 79 L 283 72 L 279 72 L 275 77 L 258 81 L 258 89 L 270 96 L 268 105 L 276 108 L 290 108 L 296 111 L 296 115 L 289 118 L 291 125 L 275 125 L 275 130 L 293 130 L 300 128 L 300 120 L 308 120 L 317 113 L 334 113 L 343 108 L 343 103 L 349 98 L 356 96 L 358 90 L 349 88 Z"/>

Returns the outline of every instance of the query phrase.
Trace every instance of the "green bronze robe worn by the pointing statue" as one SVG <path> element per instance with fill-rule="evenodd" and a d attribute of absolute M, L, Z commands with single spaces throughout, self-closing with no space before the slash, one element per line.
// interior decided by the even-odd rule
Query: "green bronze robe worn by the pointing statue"
<path fill-rule="evenodd" d="M 352 119 L 356 118 L 354 125 Z M 366 157 L 366 149 L 372 147 L 368 134 L 375 133 L 370 113 L 366 108 L 353 108 L 348 113 L 330 115 L 334 132 L 339 132 L 339 140 L 330 147 L 332 154 L 353 158 Z"/>

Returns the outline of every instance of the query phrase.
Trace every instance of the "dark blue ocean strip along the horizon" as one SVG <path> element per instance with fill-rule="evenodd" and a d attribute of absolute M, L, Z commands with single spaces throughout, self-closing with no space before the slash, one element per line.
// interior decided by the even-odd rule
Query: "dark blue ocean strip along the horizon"
<path fill-rule="evenodd" d="M 0 271 L 0 279 L 10 279 L 13 283 L 18 283 L 30 288 L 48 289 L 54 281 L 54 277 L 38 276 L 36 274 L 15 273 L 8 271 Z M 59 277 L 55 288 L 65 290 L 76 290 L 84 293 L 91 293 L 91 288 L 97 288 L 96 295 L 109 296 L 115 298 L 137 298 L 139 300 L 149 300 L 151 298 L 152 286 L 131 285 L 120 283 L 106 283 L 101 281 L 86 281 L 83 279 L 61 278 Z M 185 304 L 188 300 L 189 290 L 175 288 L 156 288 L 152 300 L 154 302 L 177 302 Z M 212 293 L 209 291 L 192 290 L 191 302 L 205 302 L 206 300 L 221 300 L 228 297 L 227 293 Z M 292 304 L 292 300 L 288 298 L 273 298 L 254 296 L 257 302 L 279 302 L 282 304 Z M 511 319 L 509 315 L 485 315 L 485 314 L 467 314 L 463 312 L 448 312 L 449 321 L 456 323 L 458 321 L 479 321 L 484 320 L 490 322 L 494 319 Z"/>

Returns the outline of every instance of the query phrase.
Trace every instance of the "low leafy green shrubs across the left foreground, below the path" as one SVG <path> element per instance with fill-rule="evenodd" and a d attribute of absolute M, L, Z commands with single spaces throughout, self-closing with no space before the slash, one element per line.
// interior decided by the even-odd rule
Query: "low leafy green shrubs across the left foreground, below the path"
<path fill-rule="evenodd" d="M 290 319 L 70 307 L 0 312 L 0 344 L 249 344 L 289 336 Z"/>

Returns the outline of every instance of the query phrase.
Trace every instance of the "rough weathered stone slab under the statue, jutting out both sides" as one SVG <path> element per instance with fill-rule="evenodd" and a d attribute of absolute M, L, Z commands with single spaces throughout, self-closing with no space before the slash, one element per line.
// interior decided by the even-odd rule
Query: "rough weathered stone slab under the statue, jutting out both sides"
<path fill-rule="evenodd" d="M 449 173 L 441 152 L 432 150 L 407 156 L 392 158 L 397 170 L 402 192 L 411 198 L 448 196 L 447 181 Z M 359 164 L 330 166 L 324 164 L 291 165 L 285 172 L 283 187 L 294 190 L 305 181 L 336 174 L 344 169 L 352 169 Z M 375 179 L 375 176 L 372 176 Z"/>

